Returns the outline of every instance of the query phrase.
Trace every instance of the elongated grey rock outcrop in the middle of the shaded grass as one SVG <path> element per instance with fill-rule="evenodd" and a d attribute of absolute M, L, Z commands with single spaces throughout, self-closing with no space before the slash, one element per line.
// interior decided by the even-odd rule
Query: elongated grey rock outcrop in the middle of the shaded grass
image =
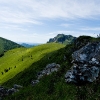
<path fill-rule="evenodd" d="M 31 82 L 31 84 L 34 86 L 36 85 L 39 80 L 44 76 L 44 75 L 50 75 L 52 72 L 57 72 L 58 69 L 60 68 L 60 65 L 59 64 L 56 64 L 56 63 L 51 63 L 51 64 L 48 64 L 44 70 L 38 72 L 37 74 L 37 80 L 33 80 Z"/>

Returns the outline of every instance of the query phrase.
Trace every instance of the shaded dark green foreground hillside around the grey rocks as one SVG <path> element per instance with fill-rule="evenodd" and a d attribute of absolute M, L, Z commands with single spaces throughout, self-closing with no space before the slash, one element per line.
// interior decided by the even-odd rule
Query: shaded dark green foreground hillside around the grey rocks
<path fill-rule="evenodd" d="M 94 82 L 83 85 L 65 82 L 65 74 L 72 67 L 72 53 L 88 43 L 98 43 L 97 41 L 99 42 L 100 38 L 80 36 L 73 44 L 47 53 L 3 84 L 6 87 L 12 87 L 14 84 L 23 86 L 19 92 L 4 100 L 99 100 L 100 76 Z M 36 79 L 37 73 L 50 63 L 60 64 L 58 72 L 43 76 L 38 84 L 32 86 L 31 82 Z"/>

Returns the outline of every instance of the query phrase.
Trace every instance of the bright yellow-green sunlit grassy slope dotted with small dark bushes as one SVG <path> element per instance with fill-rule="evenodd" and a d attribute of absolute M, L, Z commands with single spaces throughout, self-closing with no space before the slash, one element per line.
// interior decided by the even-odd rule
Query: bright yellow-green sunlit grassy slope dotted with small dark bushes
<path fill-rule="evenodd" d="M 36 46 L 34 48 L 18 48 L 6 52 L 5 55 L 0 58 L 0 84 L 28 68 L 32 63 L 40 60 L 47 53 L 58 50 L 62 47 L 63 45 L 61 44 L 51 43 Z M 10 70 L 5 72 L 5 69 Z"/>

